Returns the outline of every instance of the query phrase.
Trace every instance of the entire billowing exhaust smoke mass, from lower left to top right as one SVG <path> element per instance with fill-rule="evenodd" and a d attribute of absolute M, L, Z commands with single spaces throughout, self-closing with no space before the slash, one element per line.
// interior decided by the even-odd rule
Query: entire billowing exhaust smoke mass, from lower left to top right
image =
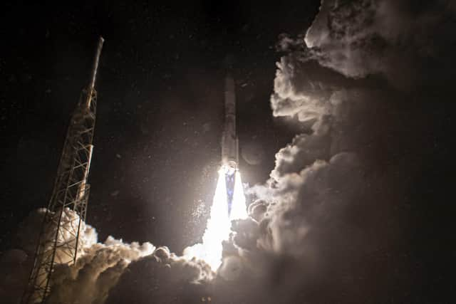
<path fill-rule="evenodd" d="M 305 38 L 282 37 L 270 100 L 307 131 L 249 189 L 257 199 L 232 223 L 217 273 L 150 243 L 88 241 L 76 267 L 56 268 L 50 303 L 418 302 L 404 249 L 427 131 L 415 105 L 454 66 L 455 12 L 451 1 L 323 1 Z M 0 260 L 6 303 L 26 281 L 33 231 Z"/>

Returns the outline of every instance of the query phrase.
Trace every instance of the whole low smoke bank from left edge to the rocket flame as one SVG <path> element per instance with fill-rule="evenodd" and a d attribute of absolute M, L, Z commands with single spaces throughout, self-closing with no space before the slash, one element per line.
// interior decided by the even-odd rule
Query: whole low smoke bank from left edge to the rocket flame
<path fill-rule="evenodd" d="M 6 300 L 2 303 L 19 303 L 45 213 L 46 209 L 32 212 L 17 232 L 17 246 L 21 249 L 10 250 L 1 257 L 0 295 Z M 66 210 L 63 216 L 75 214 Z M 199 302 L 208 296 L 204 283 L 211 281 L 214 273 L 204 261 L 176 256 L 166 247 L 155 248 L 148 242 L 124 243 L 109 236 L 98 243 L 95 229 L 85 223 L 81 223 L 80 241 L 81 251 L 75 265 L 56 263 L 46 303 L 129 303 L 135 294 L 140 298 L 133 303 L 148 303 L 150 297 L 161 299 L 160 303 L 177 299 L 182 302 L 190 294 Z M 140 291 L 132 293 L 135 289 Z"/>

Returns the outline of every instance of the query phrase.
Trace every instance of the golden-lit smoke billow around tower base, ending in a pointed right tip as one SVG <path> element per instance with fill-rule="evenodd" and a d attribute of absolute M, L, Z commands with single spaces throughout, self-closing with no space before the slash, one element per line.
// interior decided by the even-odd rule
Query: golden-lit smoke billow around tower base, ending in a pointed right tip
<path fill-rule="evenodd" d="M 19 303 L 24 293 L 45 213 L 46 209 L 33 211 L 19 226 L 16 234 L 18 248 L 7 251 L 1 257 L 0 296 L 6 301 L 3 303 Z M 69 209 L 63 216 L 77 217 L 74 211 Z M 63 222 L 71 224 L 71 221 Z M 97 243 L 95 229 L 84 222 L 81 222 L 79 244 L 79 258 L 75 266 L 56 263 L 48 303 L 105 303 L 108 290 L 117 283 L 128 264 L 155 251 L 151 243 L 123 243 L 111 236 L 104 243 Z M 56 256 L 58 255 L 59 252 L 56 253 Z"/>

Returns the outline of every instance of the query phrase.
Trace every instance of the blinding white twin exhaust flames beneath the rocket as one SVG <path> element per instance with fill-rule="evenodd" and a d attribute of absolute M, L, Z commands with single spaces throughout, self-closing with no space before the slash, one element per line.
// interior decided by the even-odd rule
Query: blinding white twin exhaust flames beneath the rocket
<path fill-rule="evenodd" d="M 234 174 L 234 193 L 232 199 L 232 209 L 229 214 L 227 198 L 227 174 L 232 174 L 228 167 L 219 169 L 217 187 L 215 189 L 214 200 L 212 202 L 209 220 L 207 221 L 206 231 L 202 236 L 202 243 L 197 243 L 184 250 L 187 258 L 199 258 L 211 266 L 213 271 L 217 271 L 222 264 L 222 241 L 227 241 L 231 232 L 231 221 L 235 219 L 246 219 L 247 208 L 245 204 L 244 188 L 239 171 Z"/>

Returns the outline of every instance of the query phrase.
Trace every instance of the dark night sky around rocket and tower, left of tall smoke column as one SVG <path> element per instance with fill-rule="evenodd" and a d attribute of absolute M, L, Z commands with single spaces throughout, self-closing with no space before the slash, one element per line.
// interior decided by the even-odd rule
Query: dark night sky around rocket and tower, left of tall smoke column
<path fill-rule="evenodd" d="M 176 251 L 194 243 L 205 218 L 194 219 L 192 212 L 199 200 L 209 206 L 219 162 L 227 55 L 234 58 L 241 149 L 253 143 L 265 154 L 257 166 L 241 163 L 244 182 L 264 182 L 274 153 L 296 133 L 274 122 L 269 107 L 277 37 L 309 26 L 318 1 L 295 7 L 243 1 L 4 4 L 0 248 L 9 247 L 29 211 L 47 204 L 99 34 L 105 46 L 88 223 L 100 239 L 113 234 Z"/>

